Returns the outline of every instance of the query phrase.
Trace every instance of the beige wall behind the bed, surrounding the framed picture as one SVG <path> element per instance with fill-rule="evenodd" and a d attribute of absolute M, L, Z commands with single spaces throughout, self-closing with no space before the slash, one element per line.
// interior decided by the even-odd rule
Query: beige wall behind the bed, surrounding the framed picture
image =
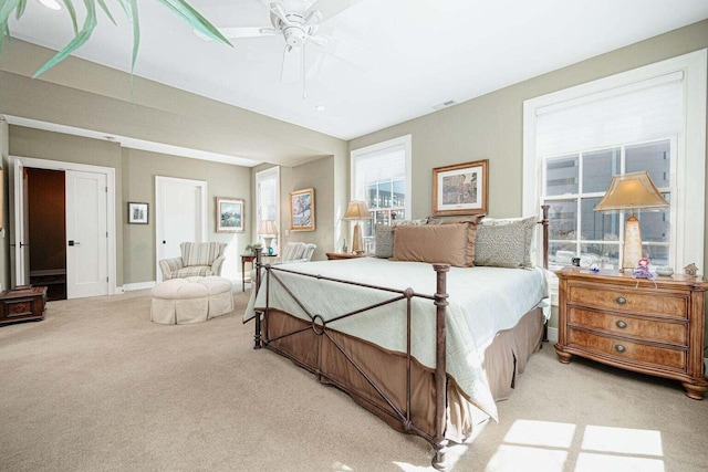
<path fill-rule="evenodd" d="M 350 150 L 413 136 L 413 218 L 430 214 L 434 167 L 489 159 L 489 214 L 520 216 L 524 99 L 704 48 L 708 48 L 708 20 L 362 136 L 350 141 Z M 706 258 L 699 264 L 708 273 L 708 238 L 704 247 Z"/>

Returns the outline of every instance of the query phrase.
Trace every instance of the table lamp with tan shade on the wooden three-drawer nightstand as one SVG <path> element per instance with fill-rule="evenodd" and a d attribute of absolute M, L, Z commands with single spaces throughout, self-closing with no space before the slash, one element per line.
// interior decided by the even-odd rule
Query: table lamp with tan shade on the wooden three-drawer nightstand
<path fill-rule="evenodd" d="M 612 177 L 610 188 L 595 206 L 595 211 L 626 210 L 629 209 L 629 218 L 624 225 L 624 248 L 622 250 L 622 269 L 633 271 L 637 262 L 643 258 L 642 230 L 639 220 L 634 216 L 635 208 L 662 208 L 669 203 L 662 197 L 649 172 L 628 172 Z"/>

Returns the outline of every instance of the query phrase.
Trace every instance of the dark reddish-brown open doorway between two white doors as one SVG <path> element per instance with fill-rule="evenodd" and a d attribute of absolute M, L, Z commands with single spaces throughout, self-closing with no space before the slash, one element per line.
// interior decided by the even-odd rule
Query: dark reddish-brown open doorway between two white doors
<path fill-rule="evenodd" d="M 49 300 L 66 300 L 66 185 L 63 170 L 24 168 L 30 284 L 46 286 Z"/>

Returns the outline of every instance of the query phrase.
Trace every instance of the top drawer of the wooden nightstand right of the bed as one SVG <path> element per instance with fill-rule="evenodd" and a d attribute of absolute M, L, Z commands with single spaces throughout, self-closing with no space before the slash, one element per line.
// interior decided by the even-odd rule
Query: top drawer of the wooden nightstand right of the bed
<path fill-rule="evenodd" d="M 677 318 L 688 317 L 688 301 L 680 292 L 648 294 L 585 285 L 571 285 L 568 294 L 569 303 L 583 306 Z"/>

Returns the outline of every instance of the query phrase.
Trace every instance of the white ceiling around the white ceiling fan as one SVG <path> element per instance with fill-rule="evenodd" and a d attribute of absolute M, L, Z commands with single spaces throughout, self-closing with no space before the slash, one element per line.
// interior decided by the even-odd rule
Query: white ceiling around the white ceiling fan
<path fill-rule="evenodd" d="M 132 27 L 118 2 L 106 3 L 118 27 L 100 12 L 75 55 L 129 71 Z M 220 28 L 270 27 L 261 0 L 189 3 Z M 361 0 L 319 30 L 356 65 L 310 45 L 303 98 L 302 84 L 280 81 L 281 36 L 238 39 L 229 48 L 199 39 L 156 1 L 139 9 L 136 75 L 342 139 L 708 18 L 706 0 Z M 55 50 L 73 35 L 66 11 L 37 0 L 10 31 Z"/>

